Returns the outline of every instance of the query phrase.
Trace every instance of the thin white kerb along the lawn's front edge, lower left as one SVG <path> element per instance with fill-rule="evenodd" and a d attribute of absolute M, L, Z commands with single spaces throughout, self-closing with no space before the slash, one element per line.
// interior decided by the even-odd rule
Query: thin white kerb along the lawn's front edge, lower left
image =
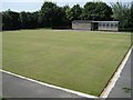
<path fill-rule="evenodd" d="M 6 70 L 0 69 L 0 71 L 4 72 L 4 73 L 8 73 L 8 74 L 11 74 L 11 76 L 14 76 L 14 77 L 18 77 L 18 78 L 21 78 L 21 79 L 24 79 L 24 80 L 28 80 L 28 81 L 32 81 L 32 82 L 49 87 L 49 88 L 53 88 L 53 89 L 62 90 L 62 91 L 65 91 L 65 92 L 69 92 L 69 93 L 73 93 L 73 94 L 80 96 L 82 98 L 91 98 L 91 99 L 98 99 L 99 98 L 99 97 L 95 97 L 95 96 L 91 96 L 91 94 L 82 93 L 82 92 L 79 92 L 79 91 L 74 91 L 74 90 L 57 87 L 57 86 L 53 86 L 53 84 L 44 83 L 44 82 L 41 82 L 41 81 L 37 81 L 34 79 L 22 77 L 22 76 L 19 76 L 19 74 L 6 71 Z"/>

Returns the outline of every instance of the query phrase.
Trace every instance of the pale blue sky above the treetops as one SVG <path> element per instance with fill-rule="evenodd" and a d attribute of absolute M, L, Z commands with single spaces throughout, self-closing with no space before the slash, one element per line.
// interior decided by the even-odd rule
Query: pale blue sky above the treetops
<path fill-rule="evenodd" d="M 131 2 L 132 0 L 0 0 L 0 11 L 12 10 L 12 11 L 38 11 L 44 1 L 55 2 L 58 6 L 63 7 L 65 4 L 72 7 L 79 3 L 81 7 L 89 1 L 103 1 L 110 4 L 111 2 Z"/>

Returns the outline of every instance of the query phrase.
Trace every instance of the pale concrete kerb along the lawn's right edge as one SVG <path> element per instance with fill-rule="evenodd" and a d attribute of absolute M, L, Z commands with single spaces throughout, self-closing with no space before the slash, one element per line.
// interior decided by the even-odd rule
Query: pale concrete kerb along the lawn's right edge
<path fill-rule="evenodd" d="M 133 50 L 133 46 L 131 47 L 131 49 L 129 50 L 129 52 L 126 53 L 125 58 L 123 59 L 122 63 L 120 64 L 120 67 L 117 68 L 116 72 L 114 73 L 113 78 L 110 80 L 108 87 L 103 90 L 103 92 L 101 93 L 100 98 L 108 98 L 108 96 L 110 94 L 111 90 L 113 89 L 113 87 L 115 86 L 117 79 L 120 78 L 120 74 L 123 70 L 123 68 L 125 67 L 125 63 L 127 61 L 127 59 L 131 56 L 131 52 Z"/>

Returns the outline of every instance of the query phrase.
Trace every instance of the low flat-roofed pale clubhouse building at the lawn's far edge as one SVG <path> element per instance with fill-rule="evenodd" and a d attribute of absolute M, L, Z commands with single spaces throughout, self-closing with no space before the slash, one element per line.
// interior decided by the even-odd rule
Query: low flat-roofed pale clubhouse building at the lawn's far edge
<path fill-rule="evenodd" d="M 74 20 L 73 30 L 119 31 L 119 21 Z"/>

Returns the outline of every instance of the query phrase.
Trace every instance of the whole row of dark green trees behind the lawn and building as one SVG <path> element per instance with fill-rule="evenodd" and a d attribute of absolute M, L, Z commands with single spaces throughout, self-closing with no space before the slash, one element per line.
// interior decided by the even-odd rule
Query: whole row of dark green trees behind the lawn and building
<path fill-rule="evenodd" d="M 80 4 L 59 7 L 53 2 L 44 2 L 41 10 L 35 12 L 2 12 L 2 29 L 33 29 L 33 28 L 71 28 L 73 20 L 119 20 L 120 30 L 133 30 L 133 2 L 123 4 L 105 2 L 86 2 Z"/>

